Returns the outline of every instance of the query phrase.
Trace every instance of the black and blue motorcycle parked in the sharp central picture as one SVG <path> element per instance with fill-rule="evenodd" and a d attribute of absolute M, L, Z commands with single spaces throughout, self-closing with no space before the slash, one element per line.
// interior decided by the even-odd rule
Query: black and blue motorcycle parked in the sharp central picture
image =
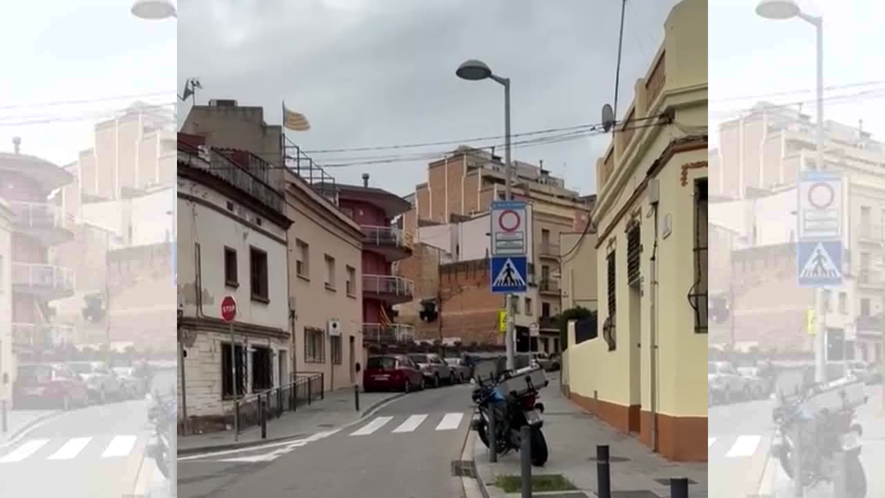
<path fill-rule="evenodd" d="M 477 386 L 473 389 L 472 396 L 473 402 L 476 403 L 476 416 L 471 423 L 471 429 L 478 432 L 482 444 L 489 447 L 489 417 L 494 416 L 496 435 L 494 451 L 498 455 L 504 455 L 511 450 L 519 451 L 520 430 L 527 425 L 531 433 L 532 465 L 540 467 L 547 463 L 548 457 L 547 440 L 541 432 L 544 406 L 537 401 L 538 389 L 543 385 L 529 385 L 527 390 L 519 394 L 504 393 L 499 385 L 509 378 L 508 375 L 505 372 L 497 378 L 490 377 L 486 381 L 477 378 Z"/>

